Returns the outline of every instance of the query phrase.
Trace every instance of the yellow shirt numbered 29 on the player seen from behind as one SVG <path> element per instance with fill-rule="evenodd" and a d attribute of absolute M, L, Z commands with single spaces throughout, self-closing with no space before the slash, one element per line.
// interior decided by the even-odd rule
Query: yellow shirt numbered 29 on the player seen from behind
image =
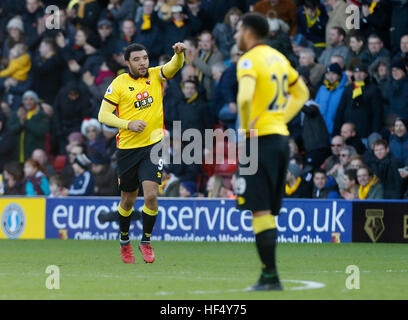
<path fill-rule="evenodd" d="M 237 79 L 244 76 L 256 80 L 249 122 L 258 135 L 289 135 L 284 120 L 288 88 L 296 83 L 298 72 L 279 51 L 266 44 L 248 50 L 237 64 Z"/>

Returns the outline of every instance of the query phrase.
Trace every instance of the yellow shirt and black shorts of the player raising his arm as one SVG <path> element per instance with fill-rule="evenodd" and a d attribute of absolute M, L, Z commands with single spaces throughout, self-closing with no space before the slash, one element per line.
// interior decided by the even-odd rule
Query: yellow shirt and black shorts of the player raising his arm
<path fill-rule="evenodd" d="M 144 180 L 161 183 L 163 163 L 153 163 L 150 151 L 164 135 L 163 82 L 172 78 L 183 63 L 184 53 L 174 54 L 165 65 L 149 68 L 146 77 L 124 73 L 106 90 L 98 120 L 119 128 L 117 171 L 122 191 L 133 192 Z M 140 133 L 128 129 L 135 120 L 146 122 Z"/>

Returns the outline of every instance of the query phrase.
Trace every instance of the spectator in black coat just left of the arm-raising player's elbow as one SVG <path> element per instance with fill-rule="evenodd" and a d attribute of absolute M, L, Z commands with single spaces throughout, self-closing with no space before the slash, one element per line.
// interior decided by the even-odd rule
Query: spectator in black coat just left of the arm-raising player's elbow
<path fill-rule="evenodd" d="M 54 104 L 55 136 L 59 153 L 65 154 L 67 137 L 71 132 L 81 131 L 84 118 L 92 117 L 93 109 L 89 103 L 89 95 L 75 81 L 62 87 Z"/>

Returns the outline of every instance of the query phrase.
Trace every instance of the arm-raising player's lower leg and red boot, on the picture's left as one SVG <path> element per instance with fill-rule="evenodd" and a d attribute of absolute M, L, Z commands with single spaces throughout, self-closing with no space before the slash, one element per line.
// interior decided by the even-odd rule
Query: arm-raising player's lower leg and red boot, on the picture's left
<path fill-rule="evenodd" d="M 138 190 L 133 192 L 121 191 L 121 200 L 118 206 L 119 230 L 120 230 L 120 250 L 121 257 L 125 263 L 135 263 L 132 247 L 129 239 L 130 216 L 133 212 L 138 195 Z"/>

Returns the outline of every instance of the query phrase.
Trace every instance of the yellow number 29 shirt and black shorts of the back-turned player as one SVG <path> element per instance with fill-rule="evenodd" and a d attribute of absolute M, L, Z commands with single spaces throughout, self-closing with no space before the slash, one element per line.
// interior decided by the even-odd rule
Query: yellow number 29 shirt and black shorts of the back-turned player
<path fill-rule="evenodd" d="M 240 128 L 247 135 L 246 156 L 258 161 L 254 175 L 240 175 L 238 179 L 237 207 L 271 210 L 277 215 L 289 162 L 287 122 L 302 108 L 308 90 L 286 57 L 265 44 L 256 45 L 240 58 L 237 79 Z M 250 155 L 250 139 L 258 139 L 257 155 Z"/>

